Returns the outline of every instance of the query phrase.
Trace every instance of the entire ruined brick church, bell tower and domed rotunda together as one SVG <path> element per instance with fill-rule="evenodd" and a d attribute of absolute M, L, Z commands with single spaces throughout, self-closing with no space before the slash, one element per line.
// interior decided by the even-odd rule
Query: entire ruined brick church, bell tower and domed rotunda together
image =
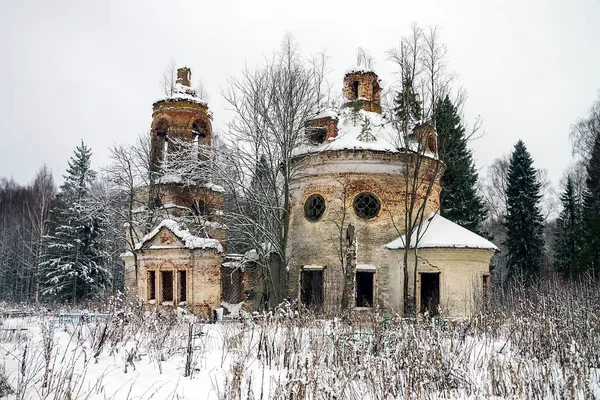
<path fill-rule="evenodd" d="M 177 72 L 174 93 L 154 103 L 151 126 L 151 169 L 177 138 L 212 146 L 212 114 L 190 87 L 191 72 Z M 346 104 L 325 110 L 307 123 L 306 140 L 294 152 L 296 171 L 290 185 L 290 226 L 287 254 L 289 297 L 307 307 L 338 312 L 344 282 L 351 282 L 350 307 L 402 312 L 403 288 L 416 289 L 418 311 L 447 316 L 473 312 L 477 296 L 490 289 L 489 264 L 498 250 L 486 239 L 436 214 L 441 174 L 436 133 L 428 124 L 415 127 L 412 137 L 423 152 L 406 151 L 381 110 L 380 80 L 374 71 L 357 67 L 344 76 Z M 406 214 L 407 169 L 420 157 L 422 184 L 417 207 L 426 218 L 411 243 L 402 232 Z M 177 179 L 160 182 L 157 202 L 169 217 L 139 240 L 128 236 L 135 251 L 125 253 L 126 286 L 148 305 L 187 306 L 199 315 L 220 307 L 224 288 L 230 291 L 238 274 L 237 299 L 251 281 L 251 268 L 233 271 L 227 259 L 227 230 L 222 224 L 224 191 L 209 181 L 190 187 Z M 425 188 L 429 188 L 428 195 Z M 195 210 L 204 237 L 177 221 Z M 344 246 L 340 229 L 352 225 Z M 409 246 L 409 276 L 404 282 L 404 249 Z M 415 250 L 414 247 L 417 247 Z M 346 275 L 340 260 L 351 259 Z M 137 259 L 137 263 L 136 263 Z M 344 261 L 346 262 L 346 261 Z M 137 264 L 137 267 L 136 267 Z M 415 271 L 416 268 L 416 271 Z M 416 288 L 413 287 L 416 285 Z M 234 296 L 235 297 L 235 296 Z"/>

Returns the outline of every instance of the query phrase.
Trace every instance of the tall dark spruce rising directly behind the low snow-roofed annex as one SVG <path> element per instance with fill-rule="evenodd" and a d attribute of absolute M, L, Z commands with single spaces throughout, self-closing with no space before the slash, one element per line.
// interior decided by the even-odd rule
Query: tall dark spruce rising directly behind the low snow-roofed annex
<path fill-rule="evenodd" d="M 473 232 L 480 233 L 480 224 L 485 219 L 486 209 L 483 199 L 477 193 L 477 170 L 473 155 L 467 148 L 465 128 L 448 96 L 438 102 L 435 124 L 438 155 L 446 164 L 440 181 L 440 214 Z"/>

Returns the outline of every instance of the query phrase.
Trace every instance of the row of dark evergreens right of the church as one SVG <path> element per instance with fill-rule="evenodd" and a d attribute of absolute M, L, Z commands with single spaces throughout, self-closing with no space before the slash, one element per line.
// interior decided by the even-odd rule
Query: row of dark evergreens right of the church
<path fill-rule="evenodd" d="M 397 97 L 400 104 L 401 97 Z M 593 143 L 567 171 L 560 213 L 547 220 L 542 210 L 543 183 L 525 143 L 519 140 L 507 160 L 501 235 L 490 228 L 490 207 L 478 190 L 478 174 L 468 149 L 469 137 L 448 96 L 435 109 L 438 152 L 446 170 L 441 178 L 440 214 L 496 241 L 505 254 L 508 280 L 529 282 L 546 267 L 568 279 L 595 277 L 600 268 L 600 100 L 574 125 L 574 152 Z M 593 139 L 590 139 L 593 138 Z M 584 169 L 583 173 L 581 169 Z M 579 171 L 578 171 L 579 170 Z M 584 179 L 581 179 L 584 176 Z M 579 187 L 578 187 L 579 186 Z M 549 232 L 551 232 L 549 234 Z M 551 260 L 550 263 L 547 260 Z"/>

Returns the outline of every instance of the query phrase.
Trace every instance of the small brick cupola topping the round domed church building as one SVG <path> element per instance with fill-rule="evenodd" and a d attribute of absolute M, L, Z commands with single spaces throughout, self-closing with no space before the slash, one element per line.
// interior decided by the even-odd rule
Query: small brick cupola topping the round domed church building
<path fill-rule="evenodd" d="M 343 91 L 346 106 L 358 103 L 365 111 L 381 114 L 381 86 L 375 72 L 361 67 L 346 71 Z"/>

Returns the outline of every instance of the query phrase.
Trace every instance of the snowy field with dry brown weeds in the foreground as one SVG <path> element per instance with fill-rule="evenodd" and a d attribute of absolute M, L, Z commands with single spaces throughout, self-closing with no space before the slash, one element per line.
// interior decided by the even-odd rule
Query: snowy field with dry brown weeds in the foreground
<path fill-rule="evenodd" d="M 463 321 L 321 320 L 281 307 L 205 324 L 182 312 L 5 306 L 0 397 L 600 398 L 600 295 L 552 285 Z"/>

